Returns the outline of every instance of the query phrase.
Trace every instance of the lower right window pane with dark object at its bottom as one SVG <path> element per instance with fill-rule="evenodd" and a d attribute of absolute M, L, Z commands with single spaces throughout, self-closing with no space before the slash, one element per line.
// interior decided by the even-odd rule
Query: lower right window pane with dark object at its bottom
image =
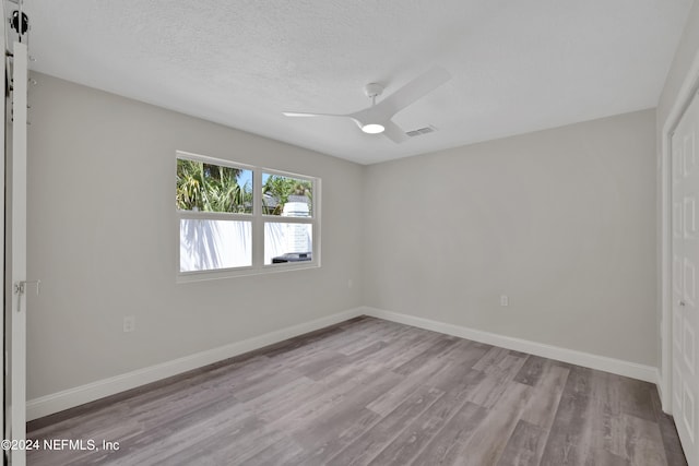
<path fill-rule="evenodd" d="M 310 261 L 313 250 L 310 224 L 264 224 L 264 264 Z"/>

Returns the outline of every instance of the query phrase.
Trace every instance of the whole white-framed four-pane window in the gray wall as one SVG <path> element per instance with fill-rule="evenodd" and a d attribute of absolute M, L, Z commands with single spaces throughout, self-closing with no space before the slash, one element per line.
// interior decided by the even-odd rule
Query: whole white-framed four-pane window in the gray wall
<path fill-rule="evenodd" d="M 178 152 L 178 277 L 319 266 L 319 186 L 312 177 Z"/>

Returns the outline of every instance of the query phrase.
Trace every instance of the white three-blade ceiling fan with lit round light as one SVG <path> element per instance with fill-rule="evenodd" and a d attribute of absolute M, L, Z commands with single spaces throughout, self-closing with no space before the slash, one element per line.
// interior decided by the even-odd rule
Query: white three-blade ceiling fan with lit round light
<path fill-rule="evenodd" d="M 371 107 L 354 113 L 307 113 L 299 111 L 284 111 L 286 117 L 342 117 L 352 119 L 362 131 L 369 134 L 383 133 L 396 144 L 407 140 L 405 131 L 395 124 L 391 118 L 408 105 L 412 105 L 423 96 L 435 91 L 451 79 L 451 74 L 441 67 L 435 67 L 426 73 L 415 77 L 390 96 L 378 104 L 376 98 L 383 92 L 383 86 L 369 83 L 364 87 L 364 93 L 371 99 Z"/>

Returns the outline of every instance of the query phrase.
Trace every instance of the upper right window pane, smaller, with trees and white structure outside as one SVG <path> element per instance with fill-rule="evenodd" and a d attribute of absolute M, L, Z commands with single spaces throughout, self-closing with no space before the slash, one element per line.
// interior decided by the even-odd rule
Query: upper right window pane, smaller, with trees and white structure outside
<path fill-rule="evenodd" d="M 262 213 L 286 217 L 313 215 L 313 183 L 310 180 L 262 174 Z"/>

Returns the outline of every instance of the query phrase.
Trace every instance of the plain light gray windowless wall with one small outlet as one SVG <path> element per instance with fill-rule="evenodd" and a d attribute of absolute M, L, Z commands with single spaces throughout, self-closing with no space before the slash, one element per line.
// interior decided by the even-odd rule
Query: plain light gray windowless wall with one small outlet
<path fill-rule="evenodd" d="M 365 303 L 655 366 L 654 117 L 369 166 Z"/>

